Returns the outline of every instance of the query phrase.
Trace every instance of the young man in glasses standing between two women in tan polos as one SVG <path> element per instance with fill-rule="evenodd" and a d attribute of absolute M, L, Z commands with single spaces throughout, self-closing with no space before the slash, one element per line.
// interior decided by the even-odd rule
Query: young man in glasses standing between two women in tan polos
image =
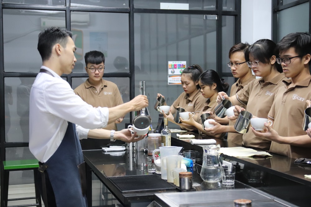
<path fill-rule="evenodd" d="M 227 63 L 228 67 L 230 67 L 231 73 L 234 78 L 238 78 L 238 80 L 231 86 L 230 96 L 234 96 L 239 90 L 244 88 L 249 82 L 256 79 L 256 77 L 252 74 L 252 70 L 248 67 L 245 60 L 244 52 L 249 47 L 248 43 L 238 43 L 232 46 L 229 50 L 229 59 L 230 62 Z M 246 109 L 246 105 L 241 104 L 241 107 Z M 215 127 L 209 128 L 207 131 L 212 134 L 220 134 L 224 133 L 225 128 L 230 129 L 235 124 L 236 119 L 228 119 L 219 118 L 211 113 L 211 119 L 214 119 L 216 122 L 220 124 L 216 124 Z M 225 124 L 228 124 L 226 126 Z M 228 133 L 227 141 L 228 146 L 236 146 L 242 145 L 242 136 L 240 133 Z"/>

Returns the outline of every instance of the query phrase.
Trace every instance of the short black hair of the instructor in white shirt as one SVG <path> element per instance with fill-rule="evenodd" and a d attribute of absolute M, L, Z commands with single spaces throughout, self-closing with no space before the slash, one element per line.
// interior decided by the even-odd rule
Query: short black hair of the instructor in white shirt
<path fill-rule="evenodd" d="M 72 38 L 72 32 L 59 27 L 49 27 L 40 32 L 38 37 L 37 49 L 42 61 L 46 61 L 51 57 L 52 47 L 55 44 L 59 43 L 66 48 L 68 37 Z"/>

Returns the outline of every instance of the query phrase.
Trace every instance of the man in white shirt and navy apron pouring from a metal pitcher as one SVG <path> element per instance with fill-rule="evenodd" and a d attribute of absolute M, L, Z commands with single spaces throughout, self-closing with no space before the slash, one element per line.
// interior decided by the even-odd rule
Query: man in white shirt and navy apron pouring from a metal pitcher
<path fill-rule="evenodd" d="M 41 195 L 45 206 L 84 207 L 85 183 L 80 178 L 83 155 L 75 124 L 103 128 L 130 111 L 148 106 L 148 99 L 139 95 L 113 108 L 94 108 L 77 96 L 60 77 L 70 74 L 77 61 L 70 31 L 45 29 L 39 34 L 38 51 L 43 64 L 30 91 L 29 148 L 39 160 Z M 128 142 L 144 138 L 135 136 Z M 113 130 L 110 138 L 114 139 Z"/>

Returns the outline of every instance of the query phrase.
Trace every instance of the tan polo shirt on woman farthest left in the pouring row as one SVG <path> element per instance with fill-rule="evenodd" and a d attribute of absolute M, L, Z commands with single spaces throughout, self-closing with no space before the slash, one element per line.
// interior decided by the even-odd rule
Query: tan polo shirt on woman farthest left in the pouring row
<path fill-rule="evenodd" d="M 200 89 L 197 89 L 196 92 L 193 93 L 189 97 L 186 92 L 182 92 L 179 97 L 174 101 L 173 106 L 176 109 L 177 106 L 184 108 L 186 111 L 194 112 L 194 114 L 198 115 L 200 110 L 204 107 L 206 98 L 202 96 Z M 190 126 L 190 128 L 180 127 L 183 130 L 188 130 L 190 132 L 197 130 L 196 127 Z"/>

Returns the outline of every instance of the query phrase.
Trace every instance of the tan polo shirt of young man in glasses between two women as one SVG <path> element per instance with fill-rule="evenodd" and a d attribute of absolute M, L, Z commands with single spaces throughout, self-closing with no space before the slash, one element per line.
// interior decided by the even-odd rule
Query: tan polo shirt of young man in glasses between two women
<path fill-rule="evenodd" d="M 234 96 L 239 90 L 241 90 L 242 88 L 244 88 L 244 86 L 246 86 L 248 83 L 252 82 L 253 80 L 256 79 L 255 75 L 252 75 L 248 80 L 245 81 L 245 83 L 241 84 L 240 79 L 237 80 L 237 82 L 235 82 L 232 86 L 231 86 L 231 90 L 230 90 L 230 97 Z M 241 104 L 241 107 L 243 107 L 244 109 L 246 109 L 246 105 Z M 233 126 L 235 124 L 236 119 L 229 119 L 229 124 L 230 126 Z M 228 133 L 228 137 L 227 137 L 227 142 L 230 143 L 234 143 L 234 144 L 238 144 L 238 145 L 242 145 L 242 137 L 243 134 L 240 133 Z"/>

